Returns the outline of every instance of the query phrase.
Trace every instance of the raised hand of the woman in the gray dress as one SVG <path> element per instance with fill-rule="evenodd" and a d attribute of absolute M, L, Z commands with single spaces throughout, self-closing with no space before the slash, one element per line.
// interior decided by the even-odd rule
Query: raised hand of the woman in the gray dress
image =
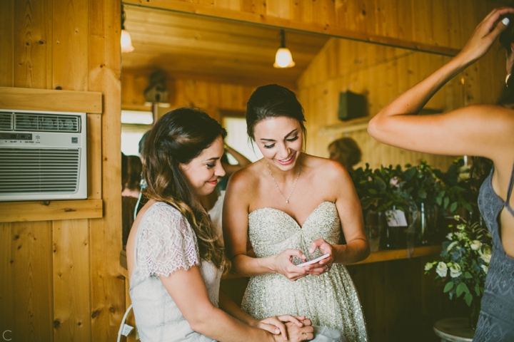
<path fill-rule="evenodd" d="M 475 28 L 473 35 L 458 56 L 464 58 L 465 63 L 472 63 L 484 56 L 485 53 L 489 51 L 489 48 L 493 45 L 496 38 L 500 36 L 500 33 L 505 30 L 508 25 L 508 22 L 507 25 L 505 25 L 502 21 L 498 23 L 497 21 L 502 16 L 509 13 L 514 13 L 514 9 L 510 7 L 493 9 Z M 511 25 L 514 25 L 514 23 Z"/>

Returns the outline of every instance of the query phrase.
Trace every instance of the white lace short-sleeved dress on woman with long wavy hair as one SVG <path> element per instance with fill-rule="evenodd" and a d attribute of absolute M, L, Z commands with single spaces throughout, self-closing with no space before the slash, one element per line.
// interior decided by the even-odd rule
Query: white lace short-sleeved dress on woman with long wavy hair
<path fill-rule="evenodd" d="M 141 219 L 134 250 L 130 295 L 141 341 L 213 341 L 191 329 L 158 278 L 200 266 L 209 299 L 218 306 L 221 271 L 199 258 L 196 235 L 181 213 L 153 204 Z"/>

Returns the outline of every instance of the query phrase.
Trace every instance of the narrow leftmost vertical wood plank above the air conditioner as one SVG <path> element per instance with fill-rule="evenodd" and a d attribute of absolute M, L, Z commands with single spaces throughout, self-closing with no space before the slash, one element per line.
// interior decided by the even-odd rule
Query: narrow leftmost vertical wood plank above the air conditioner
<path fill-rule="evenodd" d="M 14 0 L 0 5 L 0 86 L 14 86 Z"/>

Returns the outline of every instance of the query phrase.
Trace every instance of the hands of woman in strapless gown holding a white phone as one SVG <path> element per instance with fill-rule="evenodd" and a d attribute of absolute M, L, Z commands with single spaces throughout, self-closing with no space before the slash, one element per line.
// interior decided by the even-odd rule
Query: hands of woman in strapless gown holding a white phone
<path fill-rule="evenodd" d="M 293 257 L 298 257 L 302 262 L 305 262 L 307 261 L 306 255 L 299 249 L 286 249 L 275 256 L 275 271 L 286 276 L 286 278 L 291 281 L 296 281 L 308 275 L 319 276 L 320 274 L 330 271 L 334 261 L 333 246 L 324 239 L 316 239 L 311 242 L 308 252 L 313 254 L 316 252 L 316 249 L 319 249 L 321 254 L 329 254 L 329 257 L 314 264 L 297 266 L 293 264 Z"/>

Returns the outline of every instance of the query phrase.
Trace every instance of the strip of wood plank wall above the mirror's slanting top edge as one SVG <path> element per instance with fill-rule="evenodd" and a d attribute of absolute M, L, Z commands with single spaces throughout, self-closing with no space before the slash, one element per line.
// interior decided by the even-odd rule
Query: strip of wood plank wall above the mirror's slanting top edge
<path fill-rule="evenodd" d="M 420 51 L 455 53 L 490 9 L 509 0 L 124 0 Z"/>

